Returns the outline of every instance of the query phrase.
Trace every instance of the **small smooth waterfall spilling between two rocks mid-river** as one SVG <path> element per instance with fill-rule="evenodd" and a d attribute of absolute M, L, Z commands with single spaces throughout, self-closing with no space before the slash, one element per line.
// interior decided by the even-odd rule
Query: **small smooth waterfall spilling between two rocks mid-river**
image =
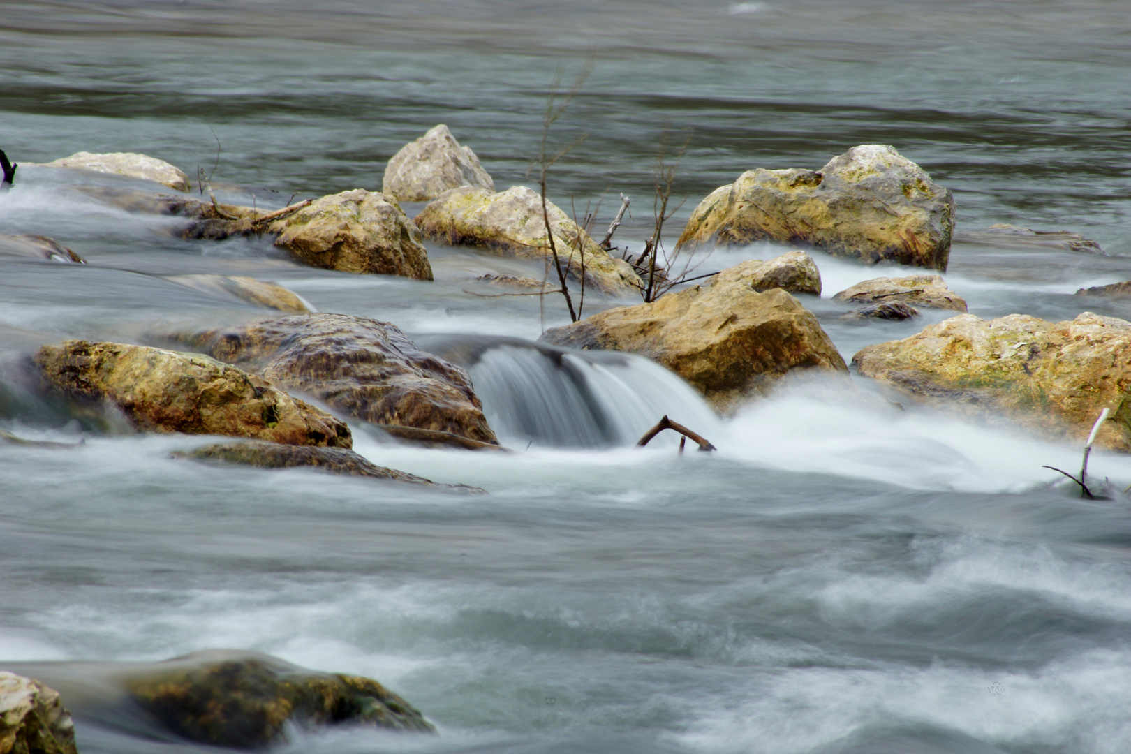
<path fill-rule="evenodd" d="M 688 383 L 633 354 L 493 336 L 422 336 L 416 343 L 470 373 L 483 411 L 504 444 L 630 445 L 665 414 L 708 436 L 719 426 Z M 655 442 L 675 437 L 661 435 Z"/>

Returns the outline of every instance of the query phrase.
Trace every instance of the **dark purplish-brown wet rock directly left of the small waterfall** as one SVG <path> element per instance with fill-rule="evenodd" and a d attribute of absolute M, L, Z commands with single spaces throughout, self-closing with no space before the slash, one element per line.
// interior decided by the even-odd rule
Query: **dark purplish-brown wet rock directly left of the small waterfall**
<path fill-rule="evenodd" d="M 181 343 L 378 425 L 498 445 L 467 372 L 416 348 L 396 326 L 300 314 L 181 336 Z"/>

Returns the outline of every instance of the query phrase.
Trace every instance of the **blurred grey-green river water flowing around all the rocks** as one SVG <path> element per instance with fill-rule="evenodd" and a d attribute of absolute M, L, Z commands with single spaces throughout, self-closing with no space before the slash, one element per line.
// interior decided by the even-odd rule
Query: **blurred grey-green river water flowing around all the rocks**
<path fill-rule="evenodd" d="M 430 244 L 434 283 L 316 270 L 267 242 L 172 239 L 31 165 L 140 151 L 280 207 L 380 189 L 388 157 L 444 122 L 502 189 L 532 180 L 555 71 L 568 87 L 587 57 L 550 141 L 588 137 L 550 194 L 579 214 L 604 198 L 602 222 L 630 194 L 622 241 L 648 234 L 665 140 L 690 139 L 671 237 L 744 170 L 891 144 L 953 190 L 959 234 L 1067 228 L 1110 254 L 967 235 L 947 279 L 972 313 L 1131 318 L 1071 295 L 1131 278 L 1125 0 L 0 1 L 0 148 L 24 163 L 0 232 L 90 262 L 0 259 L 0 428 L 83 441 L 0 445 L 0 665 L 77 687 L 78 661 L 260 650 L 379 678 L 441 731 L 299 733 L 295 752 L 1131 751 L 1131 511 L 1050 485 L 1042 465 L 1073 468 L 1078 448 L 899 410 L 860 378 L 718 419 L 640 358 L 533 345 L 561 302 L 472 280 L 541 268 Z M 814 258 L 824 296 L 804 303 L 846 358 L 946 317 L 843 323 L 830 295 L 895 270 Z M 196 272 L 395 322 L 469 370 L 518 452 L 353 423 L 375 462 L 489 495 L 217 468 L 171 458 L 208 439 L 107 434 L 26 391 L 20 358 L 44 343 L 265 315 L 165 277 Z M 719 451 L 632 449 L 663 414 Z M 1090 471 L 1131 484 L 1125 457 Z M 88 696 L 84 754 L 200 751 Z"/>

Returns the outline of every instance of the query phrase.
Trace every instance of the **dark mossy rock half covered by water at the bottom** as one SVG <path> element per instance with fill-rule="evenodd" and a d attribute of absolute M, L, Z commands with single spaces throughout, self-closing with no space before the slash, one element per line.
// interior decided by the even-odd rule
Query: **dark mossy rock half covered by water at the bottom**
<path fill-rule="evenodd" d="M 435 733 L 420 711 L 375 681 L 304 670 L 265 655 L 190 655 L 154 664 L 126 685 L 162 727 L 209 746 L 266 748 L 286 740 L 288 725 Z"/>

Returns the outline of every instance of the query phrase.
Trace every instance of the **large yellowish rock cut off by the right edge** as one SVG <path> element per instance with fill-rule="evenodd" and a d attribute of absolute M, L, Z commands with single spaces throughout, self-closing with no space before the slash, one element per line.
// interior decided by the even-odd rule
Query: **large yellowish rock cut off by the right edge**
<path fill-rule="evenodd" d="M 959 314 L 853 356 L 861 374 L 912 396 L 1000 413 L 1042 435 L 1131 451 L 1131 322 L 1085 312 L 1067 322 Z"/>

